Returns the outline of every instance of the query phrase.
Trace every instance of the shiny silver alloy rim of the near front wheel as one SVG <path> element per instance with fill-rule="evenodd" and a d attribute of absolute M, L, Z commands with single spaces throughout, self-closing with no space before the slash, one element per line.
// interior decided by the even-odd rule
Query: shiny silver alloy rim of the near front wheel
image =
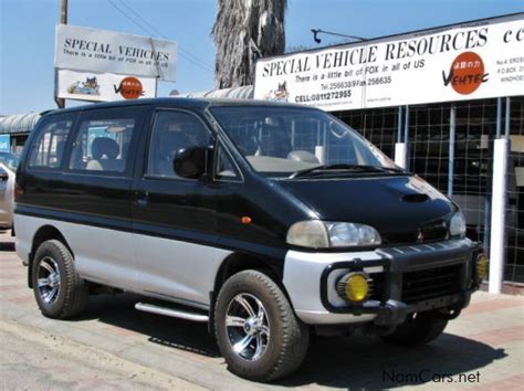
<path fill-rule="evenodd" d="M 270 342 L 270 320 L 264 305 L 247 293 L 234 296 L 226 313 L 226 329 L 232 351 L 248 361 L 260 359 Z"/>

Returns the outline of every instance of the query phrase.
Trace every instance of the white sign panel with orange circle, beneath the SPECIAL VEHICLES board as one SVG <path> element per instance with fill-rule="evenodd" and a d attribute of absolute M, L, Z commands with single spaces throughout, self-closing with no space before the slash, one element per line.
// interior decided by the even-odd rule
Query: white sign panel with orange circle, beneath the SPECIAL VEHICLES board
<path fill-rule="evenodd" d="M 156 96 L 155 77 L 113 73 L 59 70 L 59 97 L 91 102 L 111 102 Z"/>

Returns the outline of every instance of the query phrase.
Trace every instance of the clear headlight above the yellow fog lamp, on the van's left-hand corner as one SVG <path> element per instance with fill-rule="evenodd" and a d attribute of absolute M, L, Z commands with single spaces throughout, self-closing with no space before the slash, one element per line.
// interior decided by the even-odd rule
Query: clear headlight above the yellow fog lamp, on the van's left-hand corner
<path fill-rule="evenodd" d="M 373 226 L 319 220 L 291 225 L 286 242 L 302 247 L 327 249 L 379 245 L 382 241 Z"/>

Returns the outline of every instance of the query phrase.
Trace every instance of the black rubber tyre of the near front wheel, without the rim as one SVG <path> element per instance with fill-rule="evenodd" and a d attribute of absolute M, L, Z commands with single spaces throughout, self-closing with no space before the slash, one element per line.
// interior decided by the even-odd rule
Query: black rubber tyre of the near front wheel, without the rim
<path fill-rule="evenodd" d="M 270 321 L 266 350 L 254 361 L 244 360 L 232 350 L 226 327 L 229 303 L 242 293 L 262 302 Z M 266 382 L 290 374 L 302 363 L 310 344 L 308 327 L 296 318 L 279 285 L 253 270 L 234 274 L 223 284 L 214 307 L 214 332 L 231 372 L 253 381 Z"/>

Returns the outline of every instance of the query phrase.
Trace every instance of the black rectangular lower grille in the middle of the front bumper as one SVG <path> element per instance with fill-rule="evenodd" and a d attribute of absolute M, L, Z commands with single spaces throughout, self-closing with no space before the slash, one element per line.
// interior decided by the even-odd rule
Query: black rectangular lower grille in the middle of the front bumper
<path fill-rule="evenodd" d="M 460 290 L 462 265 L 407 272 L 402 276 L 402 302 L 422 302 Z"/>

